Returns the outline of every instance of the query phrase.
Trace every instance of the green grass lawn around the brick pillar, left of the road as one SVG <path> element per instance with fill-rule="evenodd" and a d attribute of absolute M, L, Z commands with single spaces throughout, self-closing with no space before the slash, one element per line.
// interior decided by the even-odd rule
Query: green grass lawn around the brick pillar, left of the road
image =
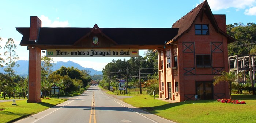
<path fill-rule="evenodd" d="M 27 103 L 27 100 L 16 100 L 17 105 L 11 102 L 0 103 L 0 123 L 13 122 L 26 116 L 44 111 L 57 104 L 65 102 L 67 99 L 42 99 L 40 103 Z"/>

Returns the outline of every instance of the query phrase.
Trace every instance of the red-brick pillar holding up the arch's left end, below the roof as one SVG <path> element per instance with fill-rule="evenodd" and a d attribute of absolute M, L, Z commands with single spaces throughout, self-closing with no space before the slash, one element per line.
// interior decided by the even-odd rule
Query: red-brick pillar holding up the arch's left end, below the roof
<path fill-rule="evenodd" d="M 39 103 L 41 89 L 41 49 L 29 46 L 29 99 L 27 103 Z"/>

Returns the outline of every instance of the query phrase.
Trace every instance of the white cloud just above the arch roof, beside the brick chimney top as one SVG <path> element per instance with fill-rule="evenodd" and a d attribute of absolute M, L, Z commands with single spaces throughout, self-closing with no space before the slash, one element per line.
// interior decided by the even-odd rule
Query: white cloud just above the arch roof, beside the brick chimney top
<path fill-rule="evenodd" d="M 69 23 L 68 21 L 57 21 L 54 20 L 52 22 L 52 20 L 50 20 L 48 17 L 41 15 L 41 17 L 39 17 L 39 19 L 42 21 L 42 27 L 69 27 Z M 59 18 L 57 18 L 59 19 Z"/>

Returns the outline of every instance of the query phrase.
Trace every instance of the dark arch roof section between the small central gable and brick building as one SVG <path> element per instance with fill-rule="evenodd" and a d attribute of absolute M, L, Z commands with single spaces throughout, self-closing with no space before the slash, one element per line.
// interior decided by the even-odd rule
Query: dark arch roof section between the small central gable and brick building
<path fill-rule="evenodd" d="M 164 44 L 177 35 L 176 28 L 100 28 L 118 44 Z"/>

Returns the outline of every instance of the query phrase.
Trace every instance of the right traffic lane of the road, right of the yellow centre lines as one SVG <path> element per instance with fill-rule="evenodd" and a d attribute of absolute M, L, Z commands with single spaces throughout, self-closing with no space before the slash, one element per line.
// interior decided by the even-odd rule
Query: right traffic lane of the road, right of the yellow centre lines
<path fill-rule="evenodd" d="M 140 122 L 157 123 L 146 116 L 135 112 L 133 108 L 128 108 L 116 100 L 110 98 L 98 87 L 94 87 L 95 111 L 98 123 L 119 123 L 119 122 Z"/>

